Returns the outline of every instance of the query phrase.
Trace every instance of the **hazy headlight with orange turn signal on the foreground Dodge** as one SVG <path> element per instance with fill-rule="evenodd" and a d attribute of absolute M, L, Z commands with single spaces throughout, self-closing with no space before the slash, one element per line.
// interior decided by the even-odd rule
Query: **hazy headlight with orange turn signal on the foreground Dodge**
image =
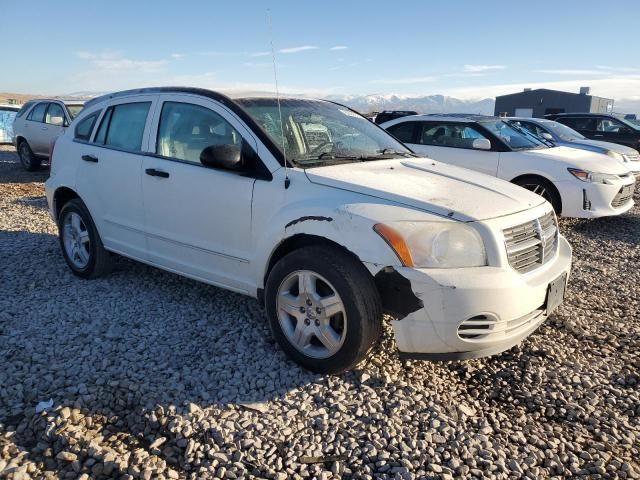
<path fill-rule="evenodd" d="M 373 229 L 398 255 L 405 267 L 459 268 L 487 264 L 478 232 L 453 222 L 378 223 Z"/>

